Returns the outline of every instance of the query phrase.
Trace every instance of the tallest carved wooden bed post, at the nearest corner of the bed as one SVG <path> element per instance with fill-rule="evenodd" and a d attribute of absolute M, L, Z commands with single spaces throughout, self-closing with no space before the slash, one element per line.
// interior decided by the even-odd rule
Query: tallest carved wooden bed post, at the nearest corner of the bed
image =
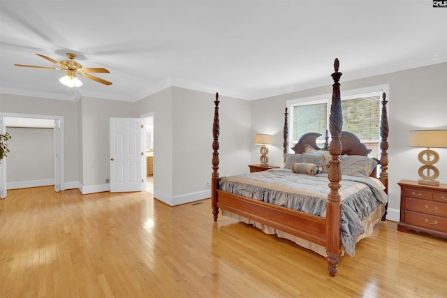
<path fill-rule="evenodd" d="M 340 169 L 339 155 L 342 154 L 342 135 L 343 114 L 342 99 L 340 97 L 339 80 L 342 73 L 339 73 L 339 61 L 335 59 L 334 69 L 332 73 L 334 84 L 332 84 L 332 104 L 330 107 L 329 130 L 332 140 L 329 145 L 329 153 L 332 156 L 329 165 L 329 188 L 328 204 L 326 211 L 326 253 L 328 254 L 328 271 L 330 276 L 337 273 L 337 265 L 340 258 L 340 224 L 342 221 L 342 204 L 339 195 L 339 182 L 342 180 L 342 171 Z"/>

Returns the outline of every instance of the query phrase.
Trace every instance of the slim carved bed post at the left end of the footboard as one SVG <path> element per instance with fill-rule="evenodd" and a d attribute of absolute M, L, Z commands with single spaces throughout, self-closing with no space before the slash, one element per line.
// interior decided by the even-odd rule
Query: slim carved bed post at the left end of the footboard
<path fill-rule="evenodd" d="M 214 100 L 214 122 L 212 124 L 212 178 L 211 178 L 211 204 L 214 221 L 217 221 L 219 208 L 217 207 L 217 186 L 219 184 L 219 94 Z"/>

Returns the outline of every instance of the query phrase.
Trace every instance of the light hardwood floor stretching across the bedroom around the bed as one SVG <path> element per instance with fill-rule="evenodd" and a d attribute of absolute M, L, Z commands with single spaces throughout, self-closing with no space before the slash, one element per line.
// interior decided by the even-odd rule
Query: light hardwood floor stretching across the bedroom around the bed
<path fill-rule="evenodd" d="M 290 241 L 214 223 L 210 200 L 52 187 L 0 200 L 0 297 L 446 297 L 446 256 L 446 240 L 380 223 L 332 278 Z"/>

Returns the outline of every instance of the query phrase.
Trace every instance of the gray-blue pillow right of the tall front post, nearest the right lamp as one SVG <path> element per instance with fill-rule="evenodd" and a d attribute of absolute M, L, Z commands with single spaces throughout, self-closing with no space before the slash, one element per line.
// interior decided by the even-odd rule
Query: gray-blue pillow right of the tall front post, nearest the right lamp
<path fill-rule="evenodd" d="M 367 156 L 342 155 L 339 157 L 342 175 L 369 176 L 377 165 L 377 161 Z"/>

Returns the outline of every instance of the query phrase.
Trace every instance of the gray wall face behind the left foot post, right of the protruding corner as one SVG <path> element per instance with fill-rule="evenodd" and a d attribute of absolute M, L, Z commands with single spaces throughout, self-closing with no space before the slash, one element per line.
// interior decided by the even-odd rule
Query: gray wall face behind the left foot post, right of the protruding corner
<path fill-rule="evenodd" d="M 174 195 L 207 188 L 212 174 L 213 94 L 173 88 Z M 250 105 L 246 100 L 219 98 L 221 173 L 247 172 Z"/>

